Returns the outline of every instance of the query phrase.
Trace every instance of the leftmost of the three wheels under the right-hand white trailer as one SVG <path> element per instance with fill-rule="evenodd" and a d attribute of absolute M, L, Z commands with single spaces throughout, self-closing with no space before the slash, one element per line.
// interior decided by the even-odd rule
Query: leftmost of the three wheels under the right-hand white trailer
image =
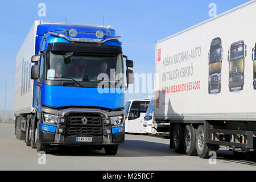
<path fill-rule="evenodd" d="M 183 128 L 179 124 L 174 125 L 174 130 L 172 130 L 172 146 L 176 153 L 184 152 Z"/>

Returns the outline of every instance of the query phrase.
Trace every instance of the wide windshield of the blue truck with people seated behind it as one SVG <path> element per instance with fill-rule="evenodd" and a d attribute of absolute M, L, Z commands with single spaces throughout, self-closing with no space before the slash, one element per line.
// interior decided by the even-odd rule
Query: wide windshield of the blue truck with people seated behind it
<path fill-rule="evenodd" d="M 47 80 L 109 81 L 122 82 L 122 55 L 100 53 L 74 53 L 70 63 L 64 63 L 66 52 L 49 51 Z M 105 73 L 98 80 L 98 75 Z"/>

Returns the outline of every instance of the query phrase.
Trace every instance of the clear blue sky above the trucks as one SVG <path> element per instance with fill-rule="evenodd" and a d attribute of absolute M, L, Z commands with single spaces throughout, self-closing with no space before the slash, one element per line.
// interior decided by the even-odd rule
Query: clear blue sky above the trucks
<path fill-rule="evenodd" d="M 38 16 L 38 4 L 46 4 L 46 17 Z M 122 36 L 123 53 L 134 60 L 135 73 L 153 73 L 155 42 L 209 19 L 209 3 L 216 3 L 217 15 L 247 0 L 184 1 L 1 1 L 0 109 L 13 109 L 15 57 L 34 20 L 69 23 L 111 24 Z M 144 98 L 146 94 L 129 94 L 126 99 Z"/>

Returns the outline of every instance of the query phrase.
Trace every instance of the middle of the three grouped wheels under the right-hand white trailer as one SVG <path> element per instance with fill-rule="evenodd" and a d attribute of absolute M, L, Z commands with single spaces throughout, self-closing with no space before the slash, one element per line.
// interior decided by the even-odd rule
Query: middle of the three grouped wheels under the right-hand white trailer
<path fill-rule="evenodd" d="M 186 125 L 184 130 L 184 150 L 187 155 L 196 155 L 196 129 Z"/>

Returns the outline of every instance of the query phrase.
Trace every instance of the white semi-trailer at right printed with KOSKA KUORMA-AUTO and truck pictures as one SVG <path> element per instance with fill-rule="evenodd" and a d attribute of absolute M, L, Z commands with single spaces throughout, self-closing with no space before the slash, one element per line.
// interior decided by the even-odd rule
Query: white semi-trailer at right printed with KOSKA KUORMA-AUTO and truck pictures
<path fill-rule="evenodd" d="M 250 1 L 156 42 L 154 117 L 175 152 L 255 155 L 255 16 Z"/>

